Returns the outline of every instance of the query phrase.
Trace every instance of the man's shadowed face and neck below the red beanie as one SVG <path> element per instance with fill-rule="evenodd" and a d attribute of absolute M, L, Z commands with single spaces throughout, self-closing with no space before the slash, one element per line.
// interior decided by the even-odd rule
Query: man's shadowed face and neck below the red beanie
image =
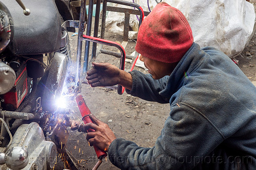
<path fill-rule="evenodd" d="M 164 76 L 172 74 L 175 66 L 178 63 L 163 63 L 160 61 L 152 60 L 147 57 L 140 56 L 140 61 L 144 62 L 145 67 L 148 69 L 148 73 L 152 75 L 153 79 L 161 79 Z"/>

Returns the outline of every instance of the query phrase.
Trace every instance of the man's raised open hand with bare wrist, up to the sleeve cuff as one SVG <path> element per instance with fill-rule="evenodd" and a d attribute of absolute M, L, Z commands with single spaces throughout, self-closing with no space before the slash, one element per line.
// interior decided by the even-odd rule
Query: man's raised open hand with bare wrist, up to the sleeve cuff
<path fill-rule="evenodd" d="M 132 75 L 124 70 L 120 70 L 110 63 L 95 63 L 93 68 L 87 71 L 88 84 L 92 87 L 114 86 L 117 84 L 131 90 L 133 85 Z"/>

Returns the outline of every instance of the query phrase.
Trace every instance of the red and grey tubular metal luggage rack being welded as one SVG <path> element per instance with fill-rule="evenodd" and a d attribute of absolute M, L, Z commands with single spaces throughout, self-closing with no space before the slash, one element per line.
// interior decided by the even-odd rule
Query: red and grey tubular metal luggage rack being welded
<path fill-rule="evenodd" d="M 99 20 L 100 20 L 100 5 L 102 3 L 102 19 L 101 19 L 101 30 L 100 30 L 100 38 L 98 37 L 98 31 L 99 31 Z M 111 7 L 107 6 L 107 3 L 114 3 L 114 4 L 120 4 L 124 6 L 130 6 L 134 7 L 134 9 L 127 9 L 127 8 L 119 8 L 119 7 Z M 96 4 L 96 11 L 95 11 L 95 20 L 94 20 L 94 34 L 91 36 L 92 31 L 92 20 L 93 20 L 93 5 Z M 88 16 L 86 15 L 86 5 L 89 5 L 88 8 Z M 102 54 L 108 54 L 115 56 L 117 58 L 120 58 L 120 69 L 124 69 L 124 62 L 125 57 L 128 59 L 132 59 L 132 65 L 130 69 L 133 69 L 136 60 L 138 59 L 138 53 L 135 54 L 135 56 L 126 55 L 124 48 L 126 47 L 128 43 L 128 34 L 129 34 L 129 21 L 130 21 L 130 15 L 140 15 L 139 18 L 139 26 L 144 18 L 144 15 L 147 16 L 150 12 L 144 12 L 142 8 L 135 3 L 121 1 L 121 0 L 81 0 L 81 1 L 73 1 L 71 2 L 71 8 L 77 8 L 80 7 L 80 18 L 79 22 L 75 20 L 69 20 L 66 21 L 66 23 L 63 23 L 63 27 L 75 27 L 78 28 L 78 41 L 77 41 L 77 58 L 76 58 L 76 77 L 75 77 L 75 89 L 78 89 L 80 91 L 81 83 L 86 77 L 86 72 L 89 66 L 91 66 L 92 62 L 96 60 L 96 57 L 102 53 Z M 137 10 L 135 10 L 135 8 Z M 105 34 L 105 19 L 106 19 L 106 11 L 113 11 L 113 12 L 120 12 L 124 13 L 124 31 L 123 31 L 123 42 L 120 44 L 105 40 L 104 34 Z M 86 21 L 85 21 L 86 20 Z M 87 27 L 87 29 L 85 29 Z M 86 35 L 83 35 L 83 32 L 86 30 Z M 81 68 L 81 51 L 82 51 L 82 40 L 86 41 L 85 44 L 85 50 L 84 50 L 84 59 L 83 59 L 83 69 L 82 74 L 80 76 L 80 68 Z M 89 61 L 89 51 L 90 51 L 90 42 L 93 42 L 92 44 L 92 57 Z M 97 43 L 100 45 L 97 48 Z M 103 49 L 104 45 L 111 45 L 115 46 L 119 49 L 120 53 L 112 52 L 109 50 Z M 80 81 L 82 80 L 82 81 Z M 123 93 L 124 88 L 122 88 L 120 85 L 118 85 L 117 91 L 119 94 Z"/>

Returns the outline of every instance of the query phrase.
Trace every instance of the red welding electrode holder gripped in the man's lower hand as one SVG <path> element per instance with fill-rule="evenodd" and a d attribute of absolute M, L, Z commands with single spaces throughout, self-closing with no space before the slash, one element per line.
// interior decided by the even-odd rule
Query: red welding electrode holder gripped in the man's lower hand
<path fill-rule="evenodd" d="M 93 123 L 91 118 L 89 117 L 89 115 L 91 114 L 91 111 L 87 107 L 86 102 L 84 102 L 84 99 L 83 99 L 82 95 L 78 95 L 76 97 L 76 104 L 77 104 L 77 106 L 79 108 L 79 111 L 81 113 L 82 121 L 83 121 L 84 125 L 86 125 L 88 123 Z M 88 132 L 94 132 L 94 130 L 89 129 Z M 102 158 L 108 156 L 108 154 L 106 154 L 106 152 L 101 151 L 99 148 L 97 148 L 95 146 L 93 146 L 93 147 L 94 147 L 94 150 L 96 152 L 96 155 L 97 155 L 98 159 L 102 159 Z"/>

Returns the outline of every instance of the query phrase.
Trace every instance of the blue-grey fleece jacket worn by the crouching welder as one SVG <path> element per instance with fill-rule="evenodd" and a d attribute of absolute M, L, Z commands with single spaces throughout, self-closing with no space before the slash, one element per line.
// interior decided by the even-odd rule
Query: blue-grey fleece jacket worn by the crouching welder
<path fill-rule="evenodd" d="M 194 43 L 170 76 L 131 72 L 144 100 L 169 103 L 154 147 L 115 139 L 111 162 L 121 169 L 256 169 L 256 88 L 225 54 Z"/>

